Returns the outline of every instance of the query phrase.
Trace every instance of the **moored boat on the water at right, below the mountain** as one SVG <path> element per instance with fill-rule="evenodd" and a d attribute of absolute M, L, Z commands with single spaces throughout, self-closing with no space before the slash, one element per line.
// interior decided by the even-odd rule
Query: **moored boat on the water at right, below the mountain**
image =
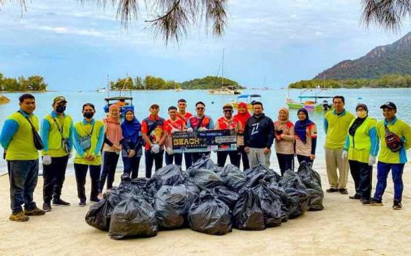
<path fill-rule="evenodd" d="M 332 104 L 326 99 L 333 98 L 331 96 L 299 96 L 299 102 L 286 98 L 286 104 L 290 109 L 307 109 L 310 111 L 329 111 L 332 109 Z"/>

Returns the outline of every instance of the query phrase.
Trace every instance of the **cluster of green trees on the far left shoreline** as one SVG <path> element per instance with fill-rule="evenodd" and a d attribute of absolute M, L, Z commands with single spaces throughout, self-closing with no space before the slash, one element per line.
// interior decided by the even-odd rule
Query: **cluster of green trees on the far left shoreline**
<path fill-rule="evenodd" d="M 42 76 L 24 76 L 5 77 L 0 73 L 1 91 L 45 91 L 47 83 Z"/>

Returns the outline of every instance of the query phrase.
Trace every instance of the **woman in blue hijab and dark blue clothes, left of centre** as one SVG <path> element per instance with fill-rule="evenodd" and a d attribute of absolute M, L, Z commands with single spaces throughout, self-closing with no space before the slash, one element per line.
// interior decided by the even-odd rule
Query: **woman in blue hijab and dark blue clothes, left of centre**
<path fill-rule="evenodd" d="M 132 179 L 138 177 L 138 167 L 142 156 L 141 124 L 134 116 L 134 111 L 125 112 L 125 119 L 121 124 L 123 139 L 121 140 L 121 156 L 123 157 L 124 173 Z"/>

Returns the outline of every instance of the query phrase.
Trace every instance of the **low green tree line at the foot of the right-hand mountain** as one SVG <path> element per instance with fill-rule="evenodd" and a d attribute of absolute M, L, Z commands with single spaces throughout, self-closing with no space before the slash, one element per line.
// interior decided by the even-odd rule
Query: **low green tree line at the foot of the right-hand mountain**
<path fill-rule="evenodd" d="M 400 76 L 400 75 L 386 75 L 379 77 L 377 79 L 346 79 L 346 80 L 335 80 L 335 79 L 312 79 L 312 80 L 301 80 L 295 83 L 290 83 L 288 88 L 348 88 L 348 89 L 358 89 L 362 87 L 369 88 L 411 88 L 411 76 Z"/>

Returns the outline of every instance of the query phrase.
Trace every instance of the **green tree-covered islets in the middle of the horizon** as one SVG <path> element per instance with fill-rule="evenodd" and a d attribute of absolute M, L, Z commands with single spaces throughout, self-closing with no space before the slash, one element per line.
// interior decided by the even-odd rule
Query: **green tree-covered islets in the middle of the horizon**
<path fill-rule="evenodd" d="M 221 86 L 233 86 L 242 88 L 236 81 L 232 81 L 220 76 L 205 76 L 202 79 L 192 79 L 179 83 L 173 80 L 164 80 L 161 77 L 137 76 L 135 79 L 132 76 L 119 78 L 116 81 L 110 81 L 110 89 L 216 89 Z"/>

